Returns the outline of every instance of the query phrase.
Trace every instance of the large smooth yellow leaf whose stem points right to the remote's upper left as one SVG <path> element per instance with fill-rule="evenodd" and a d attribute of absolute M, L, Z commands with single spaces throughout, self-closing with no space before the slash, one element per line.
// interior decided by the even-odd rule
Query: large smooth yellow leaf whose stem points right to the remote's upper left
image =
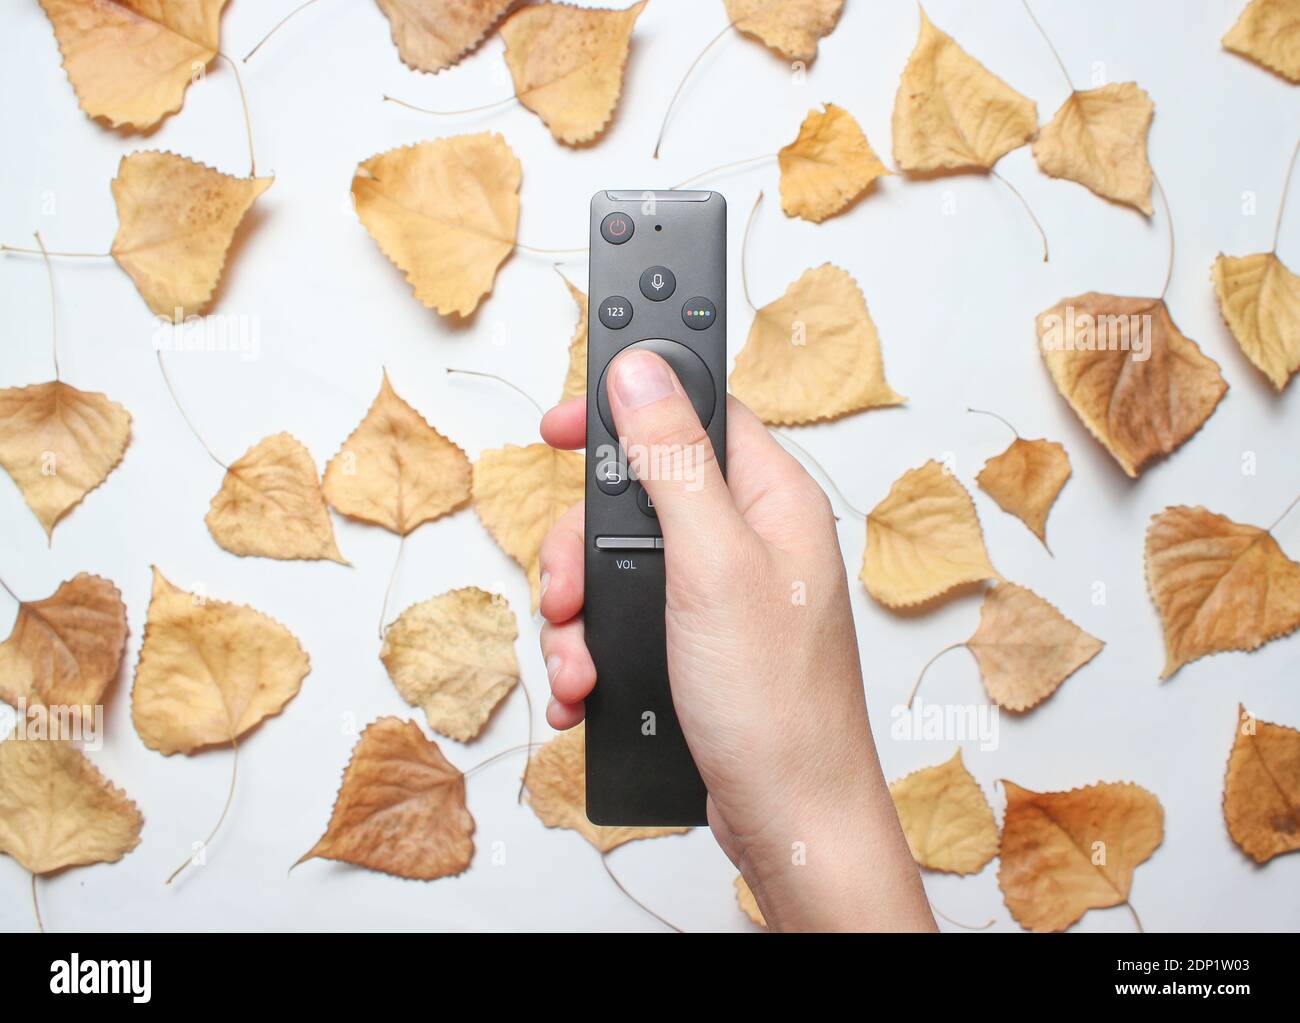
<path fill-rule="evenodd" d="M 452 135 L 372 156 L 356 169 L 352 200 L 415 296 L 468 316 L 515 248 L 520 173 L 500 135 Z"/>

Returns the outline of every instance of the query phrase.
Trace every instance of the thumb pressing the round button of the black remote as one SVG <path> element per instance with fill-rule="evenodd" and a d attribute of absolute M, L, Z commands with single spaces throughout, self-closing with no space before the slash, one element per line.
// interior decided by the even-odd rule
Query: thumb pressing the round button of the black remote
<path fill-rule="evenodd" d="M 672 368 L 641 348 L 614 360 L 610 411 L 633 472 L 654 502 L 664 546 L 712 546 L 741 523 L 714 446 Z"/>

